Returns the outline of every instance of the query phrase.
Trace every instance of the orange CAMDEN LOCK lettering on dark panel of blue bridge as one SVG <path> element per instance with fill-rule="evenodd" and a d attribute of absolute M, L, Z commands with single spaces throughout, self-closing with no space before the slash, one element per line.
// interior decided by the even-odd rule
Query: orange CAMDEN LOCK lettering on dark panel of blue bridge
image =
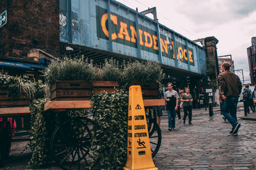
<path fill-rule="evenodd" d="M 100 6 L 96 6 L 96 20 L 97 20 L 97 37 L 102 39 L 109 38 L 108 31 L 108 11 Z M 194 52 L 192 48 L 186 48 L 186 45 L 167 38 L 161 30 L 160 41 L 157 37 L 157 32 L 138 24 L 138 32 L 136 31 L 136 24 L 134 21 L 124 18 L 116 13 L 110 15 L 111 20 L 111 38 L 113 42 L 120 43 L 122 45 L 137 47 L 137 37 L 140 37 L 140 49 L 158 54 L 159 46 L 161 46 L 161 52 L 163 57 L 177 60 L 181 58 L 182 62 L 188 64 L 188 60 L 191 66 L 195 66 Z M 168 46 L 168 42 L 170 46 Z M 170 48 L 169 48 L 170 47 Z M 176 50 L 174 50 L 176 49 Z"/>

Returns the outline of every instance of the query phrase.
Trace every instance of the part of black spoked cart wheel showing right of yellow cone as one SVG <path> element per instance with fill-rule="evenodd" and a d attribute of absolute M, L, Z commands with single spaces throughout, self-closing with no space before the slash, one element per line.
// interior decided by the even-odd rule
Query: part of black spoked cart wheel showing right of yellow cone
<path fill-rule="evenodd" d="M 148 126 L 148 134 L 149 134 L 152 157 L 154 157 L 161 146 L 161 141 L 162 141 L 161 129 L 159 125 L 157 125 L 156 121 L 148 116 L 147 116 L 147 124 L 151 124 L 150 127 Z"/>

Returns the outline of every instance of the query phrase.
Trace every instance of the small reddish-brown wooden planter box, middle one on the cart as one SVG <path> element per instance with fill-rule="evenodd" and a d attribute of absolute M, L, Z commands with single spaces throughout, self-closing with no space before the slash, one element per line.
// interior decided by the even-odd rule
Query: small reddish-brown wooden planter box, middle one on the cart
<path fill-rule="evenodd" d="M 100 92 L 114 92 L 115 89 L 119 89 L 118 81 L 92 81 L 92 91 L 94 93 Z"/>

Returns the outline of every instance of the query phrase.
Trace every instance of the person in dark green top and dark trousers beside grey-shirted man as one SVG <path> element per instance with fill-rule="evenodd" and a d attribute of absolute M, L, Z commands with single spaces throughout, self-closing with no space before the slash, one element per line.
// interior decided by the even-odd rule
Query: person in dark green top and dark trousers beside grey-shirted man
<path fill-rule="evenodd" d="M 183 124 L 186 124 L 186 117 L 188 115 L 188 124 L 192 124 L 192 101 L 193 98 L 191 94 L 189 94 L 189 87 L 185 88 L 185 93 L 181 96 L 180 101 L 183 102 L 183 110 L 184 110 L 184 117 L 183 117 Z"/>

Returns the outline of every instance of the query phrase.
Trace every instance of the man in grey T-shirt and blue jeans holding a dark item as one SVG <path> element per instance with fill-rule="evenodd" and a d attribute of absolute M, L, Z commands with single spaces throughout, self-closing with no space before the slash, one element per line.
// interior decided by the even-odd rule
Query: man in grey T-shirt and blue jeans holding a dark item
<path fill-rule="evenodd" d="M 179 94 L 173 90 L 172 83 L 167 84 L 168 91 L 164 93 L 166 111 L 168 113 L 168 131 L 175 130 L 176 110 L 178 109 Z"/>

